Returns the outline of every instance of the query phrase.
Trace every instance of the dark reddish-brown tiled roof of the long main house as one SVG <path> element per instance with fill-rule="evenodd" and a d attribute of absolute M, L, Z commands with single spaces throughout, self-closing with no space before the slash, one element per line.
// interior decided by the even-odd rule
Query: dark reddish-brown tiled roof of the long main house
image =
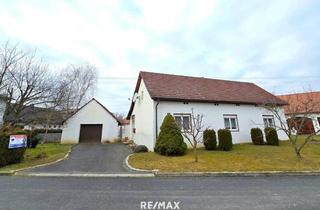
<path fill-rule="evenodd" d="M 135 92 L 141 80 L 153 100 L 189 101 L 237 104 L 286 104 L 259 86 L 248 82 L 236 82 L 203 77 L 189 77 L 141 71 Z M 131 115 L 134 103 L 129 110 Z"/>

